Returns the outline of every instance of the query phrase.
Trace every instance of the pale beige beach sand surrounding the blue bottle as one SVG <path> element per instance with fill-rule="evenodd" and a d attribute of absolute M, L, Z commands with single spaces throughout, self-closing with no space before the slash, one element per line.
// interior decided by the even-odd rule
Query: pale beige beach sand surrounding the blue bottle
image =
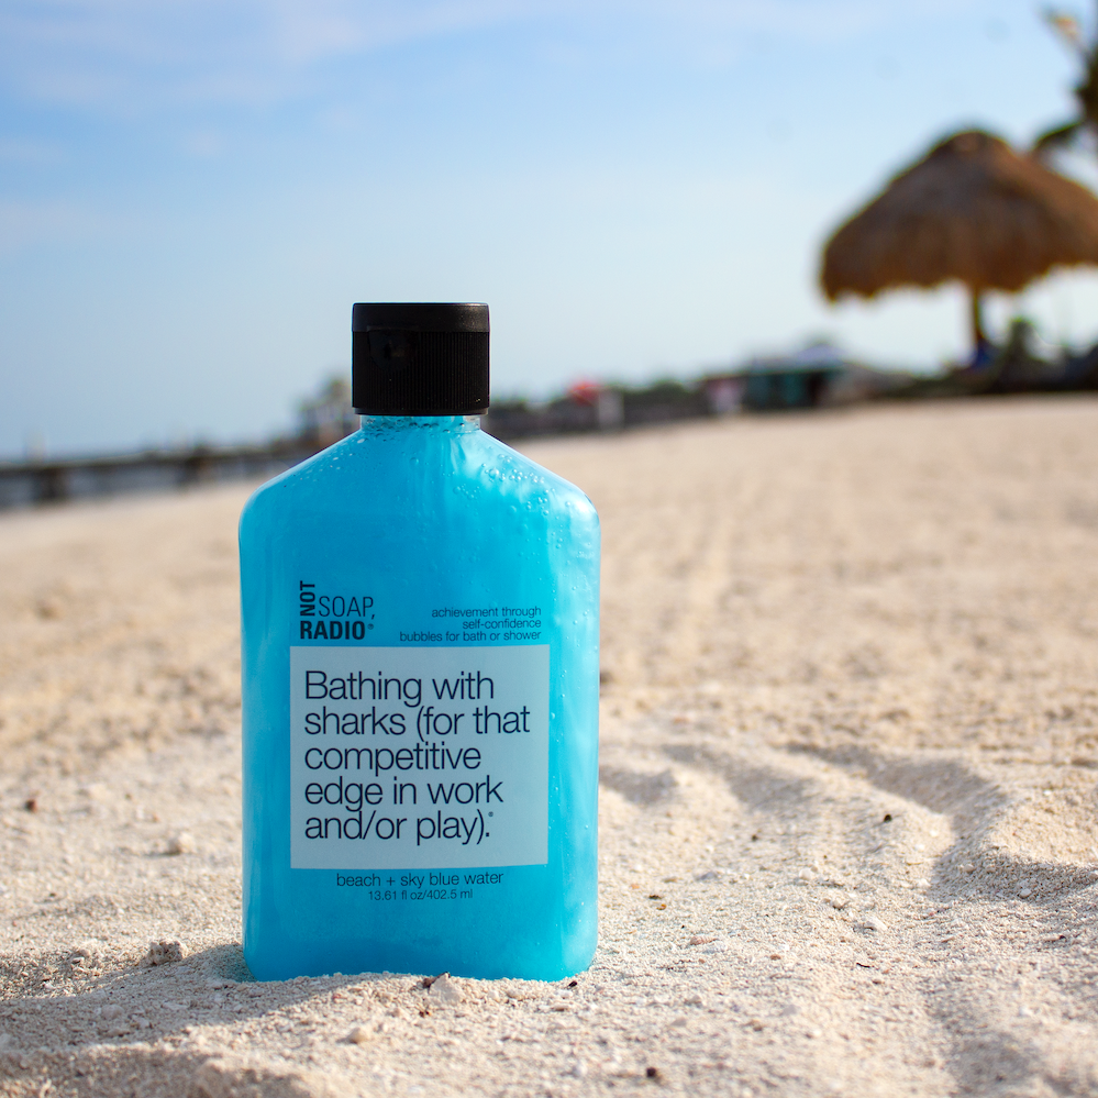
<path fill-rule="evenodd" d="M 1098 400 L 524 448 L 603 520 L 590 971 L 252 980 L 247 488 L 8 514 L 0 1093 L 1098 1094 Z"/>

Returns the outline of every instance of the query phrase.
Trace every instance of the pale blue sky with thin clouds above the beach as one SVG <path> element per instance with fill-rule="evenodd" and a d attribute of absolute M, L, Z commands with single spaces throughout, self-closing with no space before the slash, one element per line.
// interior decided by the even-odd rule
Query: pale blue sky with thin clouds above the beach
<path fill-rule="evenodd" d="M 1072 117 L 1040 7 L 0 0 L 0 457 L 290 430 L 355 301 L 487 301 L 497 397 L 960 358 L 956 288 L 829 306 L 820 248 L 936 138 Z M 1017 312 L 1095 342 L 1098 276 Z"/>

